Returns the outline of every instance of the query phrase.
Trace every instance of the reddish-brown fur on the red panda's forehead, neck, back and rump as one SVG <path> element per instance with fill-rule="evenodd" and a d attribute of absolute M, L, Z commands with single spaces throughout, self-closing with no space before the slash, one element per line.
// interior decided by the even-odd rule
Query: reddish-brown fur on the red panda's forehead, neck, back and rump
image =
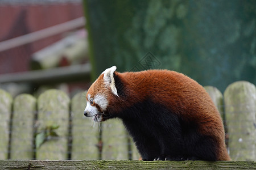
<path fill-rule="evenodd" d="M 148 70 L 115 74 L 123 82 L 123 90 L 129 97 L 114 96 L 103 83 L 103 75 L 94 82 L 88 94 L 94 96 L 101 91 L 108 96 L 109 109 L 120 112 L 126 107 L 146 98 L 169 107 L 179 116 L 193 120 L 200 125 L 199 131 L 204 135 L 216 137 L 219 143 L 218 160 L 230 160 L 225 147 L 225 133 L 220 114 L 208 93 L 195 80 L 168 70 Z M 196 106 L 196 107 L 195 107 Z"/>

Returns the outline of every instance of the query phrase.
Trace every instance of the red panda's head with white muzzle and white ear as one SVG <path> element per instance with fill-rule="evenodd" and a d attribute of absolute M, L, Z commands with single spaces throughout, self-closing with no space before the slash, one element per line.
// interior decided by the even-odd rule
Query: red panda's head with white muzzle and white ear
<path fill-rule="evenodd" d="M 108 119 L 108 107 L 113 97 L 118 97 L 115 87 L 114 71 L 117 67 L 113 66 L 103 71 L 98 79 L 90 86 L 86 95 L 86 108 L 84 115 L 93 117 L 96 122 Z"/>

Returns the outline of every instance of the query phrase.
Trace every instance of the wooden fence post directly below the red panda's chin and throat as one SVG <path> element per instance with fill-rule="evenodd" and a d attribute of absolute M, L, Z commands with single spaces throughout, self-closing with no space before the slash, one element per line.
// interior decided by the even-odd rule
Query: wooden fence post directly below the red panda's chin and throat
<path fill-rule="evenodd" d="M 102 123 L 102 159 L 128 160 L 128 134 L 122 122 L 118 119 Z"/>

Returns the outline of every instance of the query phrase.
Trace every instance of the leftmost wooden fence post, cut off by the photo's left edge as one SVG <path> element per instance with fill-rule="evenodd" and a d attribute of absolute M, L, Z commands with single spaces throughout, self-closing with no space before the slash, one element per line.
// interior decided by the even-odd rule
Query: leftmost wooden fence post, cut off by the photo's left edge
<path fill-rule="evenodd" d="M 0 159 L 8 159 L 12 103 L 11 95 L 0 89 Z"/>

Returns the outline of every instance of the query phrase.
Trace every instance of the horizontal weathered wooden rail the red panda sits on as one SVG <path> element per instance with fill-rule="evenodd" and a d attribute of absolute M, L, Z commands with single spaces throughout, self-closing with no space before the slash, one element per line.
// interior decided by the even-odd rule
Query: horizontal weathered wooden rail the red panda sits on
<path fill-rule="evenodd" d="M 255 162 L 245 161 L 42 161 L 0 160 L 0 169 L 256 169 Z"/>

